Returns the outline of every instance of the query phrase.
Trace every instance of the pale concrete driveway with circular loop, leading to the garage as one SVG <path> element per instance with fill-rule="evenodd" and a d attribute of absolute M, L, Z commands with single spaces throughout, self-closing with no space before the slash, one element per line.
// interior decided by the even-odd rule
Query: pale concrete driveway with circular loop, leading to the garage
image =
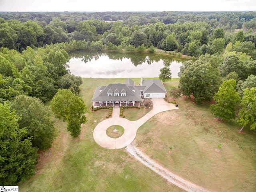
<path fill-rule="evenodd" d="M 136 121 L 130 121 L 125 118 L 120 118 L 113 116 L 100 122 L 93 131 L 93 138 L 95 142 L 107 149 L 120 149 L 129 145 L 136 137 L 137 130 L 142 126 L 146 121 L 152 118 L 154 115 L 168 111 L 178 109 L 174 104 L 167 103 L 163 98 L 152 98 L 153 109 L 144 115 L 142 118 Z M 118 110 L 118 109 L 113 109 Z M 114 111 L 113 111 L 114 113 Z M 119 138 L 110 138 L 106 134 L 108 127 L 112 125 L 120 125 L 124 127 L 124 134 Z"/>

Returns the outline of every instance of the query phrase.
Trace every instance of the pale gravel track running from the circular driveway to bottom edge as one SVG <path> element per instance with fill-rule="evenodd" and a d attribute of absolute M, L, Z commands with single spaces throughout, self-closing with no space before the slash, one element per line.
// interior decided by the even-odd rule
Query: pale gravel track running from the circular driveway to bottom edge
<path fill-rule="evenodd" d="M 187 180 L 184 180 L 183 178 L 177 176 L 176 174 L 170 172 L 160 164 L 154 162 L 152 159 L 150 159 L 148 156 L 146 156 L 144 153 L 142 153 L 134 144 L 129 144 L 126 146 L 125 150 L 134 156 L 139 162 L 150 168 L 152 171 L 156 172 L 158 175 L 162 176 L 168 182 L 171 182 L 172 184 L 178 186 L 179 188 L 182 188 L 183 190 L 186 190 L 188 192 L 209 192 L 208 190 L 193 184 Z"/>

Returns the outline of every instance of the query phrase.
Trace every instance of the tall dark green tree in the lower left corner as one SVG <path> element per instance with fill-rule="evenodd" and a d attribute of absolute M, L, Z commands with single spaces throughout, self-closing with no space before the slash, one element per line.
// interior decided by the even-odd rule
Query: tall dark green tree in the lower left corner
<path fill-rule="evenodd" d="M 32 177 L 37 163 L 37 148 L 26 129 L 19 128 L 19 116 L 10 110 L 9 104 L 0 103 L 0 182 L 1 185 L 17 185 Z"/>

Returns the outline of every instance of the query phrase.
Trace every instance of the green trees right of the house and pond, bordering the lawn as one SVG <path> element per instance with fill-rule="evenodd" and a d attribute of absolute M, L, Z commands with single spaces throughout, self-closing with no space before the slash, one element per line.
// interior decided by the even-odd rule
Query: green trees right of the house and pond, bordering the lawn
<path fill-rule="evenodd" d="M 166 67 L 163 68 L 167 70 Z M 161 69 L 161 70 L 163 70 Z M 205 54 L 198 60 L 186 61 L 180 67 L 180 83 L 172 88 L 175 99 L 183 94 L 198 104 L 214 100 L 210 106 L 217 120 L 231 120 L 242 126 L 256 128 L 256 60 L 246 53 L 232 51 L 226 47 L 223 54 Z M 170 70 L 170 69 L 168 69 Z M 164 78 L 161 71 L 160 78 Z M 165 80 L 170 78 L 168 74 Z"/>

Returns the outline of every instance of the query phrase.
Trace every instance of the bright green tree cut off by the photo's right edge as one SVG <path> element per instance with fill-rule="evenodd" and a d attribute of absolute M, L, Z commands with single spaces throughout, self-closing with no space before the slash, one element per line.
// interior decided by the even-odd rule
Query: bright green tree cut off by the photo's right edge
<path fill-rule="evenodd" d="M 246 88 L 244 90 L 244 96 L 242 97 L 242 108 L 239 110 L 238 124 L 242 126 L 240 132 L 244 126 L 250 125 L 250 129 L 256 128 L 256 87 L 251 89 Z"/>

